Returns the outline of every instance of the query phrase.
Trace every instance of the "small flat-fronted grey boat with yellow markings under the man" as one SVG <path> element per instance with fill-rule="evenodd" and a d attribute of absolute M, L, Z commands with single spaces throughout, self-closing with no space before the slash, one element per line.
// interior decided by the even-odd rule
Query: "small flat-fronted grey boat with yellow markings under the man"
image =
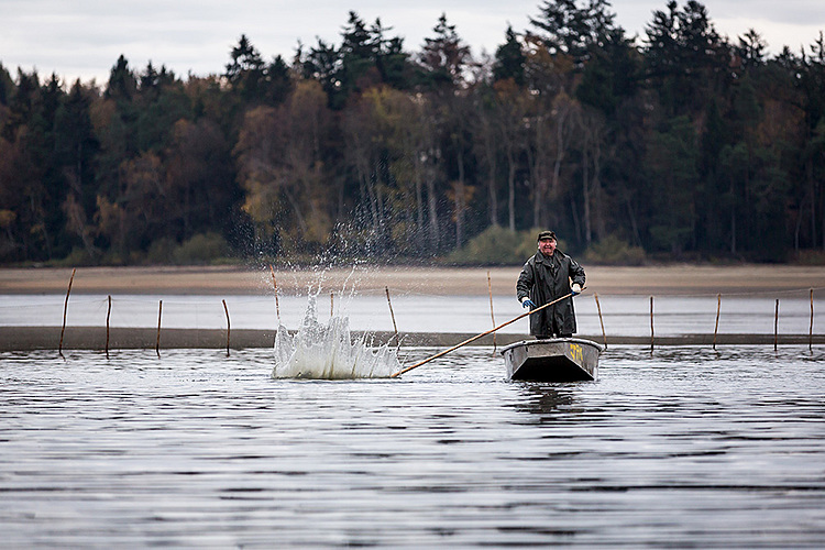
<path fill-rule="evenodd" d="M 604 346 L 580 338 L 522 340 L 502 349 L 510 380 L 592 381 L 598 377 Z"/>

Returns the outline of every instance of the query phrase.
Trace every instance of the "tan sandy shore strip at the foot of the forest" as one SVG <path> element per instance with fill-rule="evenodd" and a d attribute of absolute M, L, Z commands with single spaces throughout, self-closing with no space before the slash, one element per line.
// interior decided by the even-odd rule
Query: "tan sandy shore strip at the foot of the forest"
<path fill-rule="evenodd" d="M 804 292 L 825 288 L 825 268 L 789 265 L 585 266 L 588 292 L 600 295 L 715 295 Z M 279 293 L 355 288 L 362 294 L 515 294 L 520 267 L 367 267 L 276 271 Z M 487 274 L 490 274 L 490 286 Z M 72 268 L 0 268 L 2 294 L 65 294 Z M 72 294 L 268 295 L 268 268 L 242 267 L 80 267 Z"/>

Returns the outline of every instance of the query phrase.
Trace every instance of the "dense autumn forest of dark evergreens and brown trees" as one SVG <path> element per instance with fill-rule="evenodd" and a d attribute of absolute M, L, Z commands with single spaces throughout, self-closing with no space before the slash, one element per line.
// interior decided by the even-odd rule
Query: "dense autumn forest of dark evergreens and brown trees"
<path fill-rule="evenodd" d="M 825 41 L 728 38 L 702 3 L 641 36 L 547 0 L 474 56 L 350 12 L 340 44 L 105 84 L 0 64 L 0 263 L 825 262 Z M 527 245 L 522 245 L 524 243 Z"/>

